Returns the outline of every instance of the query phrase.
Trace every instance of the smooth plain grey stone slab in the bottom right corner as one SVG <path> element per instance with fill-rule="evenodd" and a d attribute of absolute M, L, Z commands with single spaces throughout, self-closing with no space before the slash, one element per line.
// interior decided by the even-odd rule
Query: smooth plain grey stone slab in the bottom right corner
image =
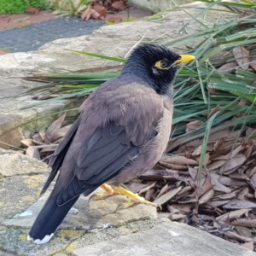
<path fill-rule="evenodd" d="M 151 230 L 81 247 L 75 256 L 255 256 L 255 253 L 187 224 L 166 220 Z"/>

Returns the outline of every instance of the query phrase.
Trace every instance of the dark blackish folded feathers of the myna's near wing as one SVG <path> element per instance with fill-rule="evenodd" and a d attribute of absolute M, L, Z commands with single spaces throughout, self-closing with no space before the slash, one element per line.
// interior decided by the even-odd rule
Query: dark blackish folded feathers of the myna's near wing
<path fill-rule="evenodd" d="M 140 135 L 137 134 L 137 137 Z M 57 204 L 61 206 L 84 191 L 94 190 L 108 182 L 131 163 L 138 151 L 139 146 L 131 143 L 131 137 L 127 136 L 124 126 L 110 124 L 97 128 L 79 149 L 74 175 L 62 189 Z"/>

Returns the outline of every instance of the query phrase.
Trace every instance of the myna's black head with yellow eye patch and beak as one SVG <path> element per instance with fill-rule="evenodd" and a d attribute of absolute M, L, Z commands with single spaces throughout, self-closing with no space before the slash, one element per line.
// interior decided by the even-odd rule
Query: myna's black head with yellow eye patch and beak
<path fill-rule="evenodd" d="M 189 55 L 177 55 L 172 50 L 156 44 L 141 44 L 131 53 L 122 73 L 136 75 L 157 93 L 164 95 L 175 79 L 177 66 L 188 62 L 184 61 L 183 56 L 188 58 Z"/>

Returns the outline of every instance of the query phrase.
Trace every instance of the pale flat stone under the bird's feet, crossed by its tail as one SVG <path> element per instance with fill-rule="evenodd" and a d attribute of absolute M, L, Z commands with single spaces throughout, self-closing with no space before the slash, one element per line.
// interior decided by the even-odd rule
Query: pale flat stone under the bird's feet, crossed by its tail
<path fill-rule="evenodd" d="M 95 193 L 103 193 L 97 189 Z M 38 213 L 44 206 L 49 193 L 43 195 L 35 204 L 16 215 L 14 218 L 3 220 L 2 224 L 22 228 L 31 228 Z M 118 226 L 130 221 L 140 219 L 156 219 L 157 212 L 154 207 L 139 204 L 128 209 L 115 211 L 119 203 L 127 201 L 124 195 L 113 195 L 100 201 L 88 201 L 90 195 L 81 195 L 73 209 L 68 212 L 67 217 L 61 223 L 59 229 L 82 229 L 91 230 L 95 228 L 106 228 Z"/>

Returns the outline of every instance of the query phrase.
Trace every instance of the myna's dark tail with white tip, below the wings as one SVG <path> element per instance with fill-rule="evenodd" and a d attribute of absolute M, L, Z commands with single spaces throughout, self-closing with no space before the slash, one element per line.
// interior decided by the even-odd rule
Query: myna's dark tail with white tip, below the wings
<path fill-rule="evenodd" d="M 79 199 L 78 196 L 61 207 L 58 207 L 56 204 L 57 196 L 58 195 L 53 195 L 53 193 L 49 195 L 48 200 L 45 202 L 44 207 L 41 212 L 39 212 L 38 217 L 32 225 L 27 240 L 32 240 L 37 244 L 49 241 L 62 220 L 66 217 L 67 212 Z"/>

